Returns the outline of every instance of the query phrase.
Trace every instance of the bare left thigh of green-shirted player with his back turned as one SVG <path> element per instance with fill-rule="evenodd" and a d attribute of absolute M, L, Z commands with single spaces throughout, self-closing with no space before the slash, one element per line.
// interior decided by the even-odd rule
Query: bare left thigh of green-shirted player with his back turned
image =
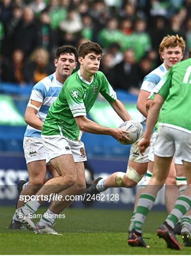
<path fill-rule="evenodd" d="M 172 159 L 173 156 L 161 157 L 155 155 L 152 178 L 157 180 L 159 183 L 164 183 L 169 174 Z"/>

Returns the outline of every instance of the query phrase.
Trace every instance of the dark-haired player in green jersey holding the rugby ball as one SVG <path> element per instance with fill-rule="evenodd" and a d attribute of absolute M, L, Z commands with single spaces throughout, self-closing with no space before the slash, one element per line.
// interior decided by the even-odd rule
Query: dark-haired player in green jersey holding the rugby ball
<path fill-rule="evenodd" d="M 46 182 L 36 193 L 37 200 L 28 201 L 25 206 L 16 210 L 22 223 L 29 229 L 35 229 L 37 233 L 42 233 L 42 227 L 39 228 L 38 224 L 35 227 L 31 213 L 35 213 L 43 203 L 41 195 L 47 197 L 59 193 L 62 196 L 62 201 L 54 201 L 47 212 L 50 217 L 46 221 L 52 225 L 55 215 L 72 202 L 64 200 L 65 197 L 76 195 L 76 192 L 80 194 L 85 190 L 83 162 L 86 161 L 86 154 L 83 143 L 78 140 L 80 130 L 110 135 L 120 141 L 128 140 L 127 131 L 103 127 L 86 118 L 100 92 L 121 119 L 131 119 L 105 75 L 98 71 L 102 53 L 101 47 L 93 42 L 79 46 L 80 70 L 64 82 L 43 123 L 41 137 L 46 150 L 46 163 L 50 162 L 60 177 Z"/>

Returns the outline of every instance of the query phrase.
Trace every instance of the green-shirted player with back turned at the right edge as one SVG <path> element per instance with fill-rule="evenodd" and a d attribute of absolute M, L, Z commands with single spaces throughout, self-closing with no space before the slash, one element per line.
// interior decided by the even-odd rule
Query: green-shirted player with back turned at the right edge
<path fill-rule="evenodd" d="M 167 247 L 181 250 L 173 229 L 177 221 L 191 208 L 191 58 L 171 67 L 154 92 L 156 95 L 150 104 L 146 132 L 139 142 L 140 153 L 144 153 L 158 119 L 154 170 L 150 182 L 139 198 L 128 244 L 148 247 L 142 238 L 142 225 L 155 203 L 158 191 L 164 185 L 174 156 L 174 159 L 182 160 L 188 186 L 157 230 L 157 235 L 164 238 Z M 175 168 L 178 169 L 178 165 L 175 164 Z M 191 246 L 190 234 L 182 234 L 182 237 L 185 244 Z"/>

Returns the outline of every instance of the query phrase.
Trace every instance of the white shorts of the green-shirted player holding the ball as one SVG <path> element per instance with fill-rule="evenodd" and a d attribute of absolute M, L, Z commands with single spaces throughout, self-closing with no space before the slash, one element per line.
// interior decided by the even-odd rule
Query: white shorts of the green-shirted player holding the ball
<path fill-rule="evenodd" d="M 51 159 L 60 155 L 73 155 L 74 162 L 87 161 L 84 144 L 82 141 L 74 141 L 64 136 L 43 136 L 42 142 L 46 151 L 46 164 Z"/>

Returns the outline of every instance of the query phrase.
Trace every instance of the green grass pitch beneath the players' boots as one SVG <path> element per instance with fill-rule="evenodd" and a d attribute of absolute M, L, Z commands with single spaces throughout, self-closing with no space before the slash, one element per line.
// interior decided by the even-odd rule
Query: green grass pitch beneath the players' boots
<path fill-rule="evenodd" d="M 44 213 L 41 208 L 37 213 Z M 151 212 L 144 225 L 144 238 L 150 248 L 127 246 L 127 226 L 132 212 L 127 210 L 67 209 L 65 219 L 57 219 L 55 229 L 63 236 L 37 235 L 32 231 L 8 229 L 13 207 L 0 208 L 0 254 L 4 255 L 190 255 L 166 248 L 156 229 L 165 212 Z M 36 223 L 37 220 L 35 220 Z M 178 236 L 182 244 L 182 238 Z"/>

